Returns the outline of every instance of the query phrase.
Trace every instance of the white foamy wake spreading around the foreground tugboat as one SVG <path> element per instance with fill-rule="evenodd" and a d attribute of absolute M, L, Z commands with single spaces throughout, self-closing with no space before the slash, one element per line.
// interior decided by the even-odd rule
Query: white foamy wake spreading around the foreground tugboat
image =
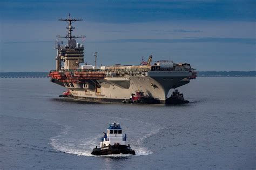
<path fill-rule="evenodd" d="M 149 127 L 156 127 L 155 125 L 146 125 L 146 129 Z M 149 155 L 152 154 L 149 148 L 147 148 L 143 142 L 146 138 L 149 138 L 151 135 L 158 133 L 160 128 L 154 128 L 154 130 L 148 131 L 149 133 L 139 134 L 139 138 L 133 137 L 127 144 L 130 144 L 132 149 L 135 151 L 136 156 L 140 155 Z M 145 132 L 145 131 L 144 131 Z M 68 153 L 68 154 L 76 154 L 83 155 L 86 157 L 129 157 L 130 154 L 114 154 L 114 155 L 102 155 L 95 156 L 92 155 L 92 149 L 96 146 L 99 146 L 99 139 L 102 137 L 101 135 L 97 135 L 96 137 L 87 137 L 87 138 L 77 138 L 73 137 L 71 132 L 71 127 L 65 127 L 62 132 L 60 132 L 56 137 L 50 138 L 50 144 L 57 151 Z"/>

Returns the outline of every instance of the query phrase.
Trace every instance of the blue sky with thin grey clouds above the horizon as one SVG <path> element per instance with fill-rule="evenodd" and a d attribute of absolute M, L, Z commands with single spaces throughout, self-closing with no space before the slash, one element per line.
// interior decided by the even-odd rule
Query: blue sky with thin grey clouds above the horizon
<path fill-rule="evenodd" d="M 0 0 L 0 72 L 55 69 L 57 35 L 85 35 L 85 62 L 137 65 L 150 55 L 198 71 L 255 66 L 256 1 Z M 66 40 L 63 39 L 64 43 Z"/>

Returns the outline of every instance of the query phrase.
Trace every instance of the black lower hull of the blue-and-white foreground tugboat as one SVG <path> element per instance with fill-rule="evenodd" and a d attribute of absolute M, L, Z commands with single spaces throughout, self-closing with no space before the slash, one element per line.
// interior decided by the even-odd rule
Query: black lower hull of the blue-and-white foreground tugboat
<path fill-rule="evenodd" d="M 135 152 L 126 145 L 111 145 L 102 148 L 94 148 L 92 150 L 93 155 L 109 155 L 109 154 L 132 154 L 135 155 Z"/>

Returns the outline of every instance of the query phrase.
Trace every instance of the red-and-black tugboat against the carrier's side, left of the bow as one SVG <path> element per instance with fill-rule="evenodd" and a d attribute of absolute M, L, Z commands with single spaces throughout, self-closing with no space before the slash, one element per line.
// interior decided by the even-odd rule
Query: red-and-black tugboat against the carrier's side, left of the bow
<path fill-rule="evenodd" d="M 154 104 L 156 100 L 152 97 L 145 96 L 142 90 L 137 90 L 135 94 L 131 94 L 130 99 L 125 99 L 122 103 Z"/>

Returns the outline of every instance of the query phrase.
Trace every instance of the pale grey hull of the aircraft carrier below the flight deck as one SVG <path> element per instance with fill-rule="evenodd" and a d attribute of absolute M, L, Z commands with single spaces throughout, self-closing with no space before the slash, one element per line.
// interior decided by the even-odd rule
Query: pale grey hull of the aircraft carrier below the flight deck
<path fill-rule="evenodd" d="M 134 91 L 144 91 L 147 97 L 153 98 L 149 104 L 165 104 L 170 89 L 190 82 L 187 79 L 190 72 L 149 72 L 144 77 L 107 77 L 102 80 L 86 80 L 83 83 L 73 83 L 71 87 L 57 79 L 53 83 L 70 90 L 73 98 L 95 103 L 122 103 L 129 99 Z M 86 86 L 85 86 L 86 84 Z"/>

